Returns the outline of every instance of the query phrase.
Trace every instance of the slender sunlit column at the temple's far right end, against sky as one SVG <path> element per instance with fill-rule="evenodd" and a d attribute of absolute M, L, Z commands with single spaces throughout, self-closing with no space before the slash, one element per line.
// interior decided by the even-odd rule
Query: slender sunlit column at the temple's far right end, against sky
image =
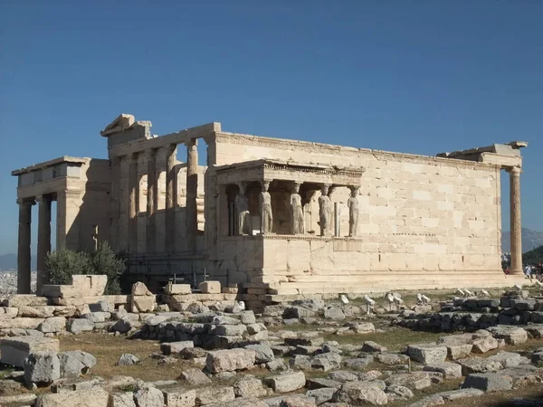
<path fill-rule="evenodd" d="M 520 219 L 520 173 L 519 167 L 508 170 L 510 174 L 510 228 L 511 228 L 511 274 L 522 274 L 522 222 Z"/>

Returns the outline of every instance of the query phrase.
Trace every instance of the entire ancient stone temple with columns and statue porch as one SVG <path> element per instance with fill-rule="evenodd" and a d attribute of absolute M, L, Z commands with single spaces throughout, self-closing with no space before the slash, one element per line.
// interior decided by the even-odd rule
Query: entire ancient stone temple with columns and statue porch
<path fill-rule="evenodd" d="M 56 247 L 109 241 L 149 287 L 174 275 L 240 287 L 248 308 L 281 296 L 522 282 L 524 142 L 438 156 L 224 132 L 220 123 L 153 136 L 128 114 L 103 131 L 109 159 L 62 156 L 15 170 L 18 291 L 30 292 L 38 204 L 38 292 Z M 198 165 L 198 143 L 207 147 Z M 186 162 L 177 159 L 186 147 Z M 500 176 L 510 175 L 511 275 L 500 265 Z M 154 286 L 154 282 L 156 285 Z"/>

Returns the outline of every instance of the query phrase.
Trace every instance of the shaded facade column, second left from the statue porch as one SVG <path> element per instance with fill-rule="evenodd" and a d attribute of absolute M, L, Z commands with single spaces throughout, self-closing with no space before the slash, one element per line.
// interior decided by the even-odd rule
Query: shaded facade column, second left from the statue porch
<path fill-rule="evenodd" d="M 176 251 L 176 155 L 177 146 L 166 148 L 166 250 L 169 253 Z"/>

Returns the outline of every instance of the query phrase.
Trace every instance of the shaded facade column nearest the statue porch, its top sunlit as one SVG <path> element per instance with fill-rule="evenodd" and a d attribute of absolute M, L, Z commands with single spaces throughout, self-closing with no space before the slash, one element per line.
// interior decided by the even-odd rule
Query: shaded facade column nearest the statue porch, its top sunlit
<path fill-rule="evenodd" d="M 198 150 L 197 139 L 186 142 L 186 249 L 196 251 L 198 212 Z"/>

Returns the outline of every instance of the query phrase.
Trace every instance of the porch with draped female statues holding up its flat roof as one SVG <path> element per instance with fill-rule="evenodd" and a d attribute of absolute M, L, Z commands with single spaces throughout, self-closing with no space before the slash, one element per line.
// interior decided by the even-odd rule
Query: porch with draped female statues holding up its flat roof
<path fill-rule="evenodd" d="M 361 167 L 265 159 L 218 166 L 218 234 L 356 236 L 357 194 L 363 173 Z M 338 188 L 348 188 L 345 202 L 333 203 L 330 196 Z M 310 204 L 317 193 L 318 211 Z M 346 206 L 349 227 L 341 231 L 339 216 Z"/>

